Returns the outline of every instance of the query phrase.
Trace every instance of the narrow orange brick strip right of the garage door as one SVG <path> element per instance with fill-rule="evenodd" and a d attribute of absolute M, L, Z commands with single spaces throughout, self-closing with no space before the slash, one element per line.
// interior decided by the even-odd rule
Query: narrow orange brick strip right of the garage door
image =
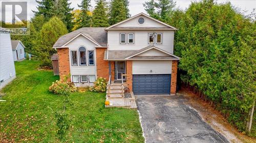
<path fill-rule="evenodd" d="M 176 94 L 178 61 L 172 62 L 172 78 L 170 81 L 170 94 Z"/>

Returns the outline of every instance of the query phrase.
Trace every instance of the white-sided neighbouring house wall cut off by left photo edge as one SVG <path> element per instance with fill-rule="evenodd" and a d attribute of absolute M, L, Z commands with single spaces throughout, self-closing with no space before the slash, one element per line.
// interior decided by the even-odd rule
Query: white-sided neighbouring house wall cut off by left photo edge
<path fill-rule="evenodd" d="M 0 89 L 16 78 L 10 32 L 0 28 Z"/>

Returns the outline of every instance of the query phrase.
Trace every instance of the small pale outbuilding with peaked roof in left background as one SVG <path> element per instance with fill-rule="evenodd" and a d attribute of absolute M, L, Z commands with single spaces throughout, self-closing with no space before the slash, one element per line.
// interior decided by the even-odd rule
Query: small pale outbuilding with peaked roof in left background
<path fill-rule="evenodd" d="M 12 55 L 14 61 L 25 59 L 25 46 L 22 41 L 12 40 Z"/>

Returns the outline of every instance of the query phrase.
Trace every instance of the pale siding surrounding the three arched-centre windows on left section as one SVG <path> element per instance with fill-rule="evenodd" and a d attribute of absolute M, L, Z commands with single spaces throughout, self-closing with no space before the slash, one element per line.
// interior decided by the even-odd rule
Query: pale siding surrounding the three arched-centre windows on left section
<path fill-rule="evenodd" d="M 97 77 L 97 71 L 96 71 L 96 50 L 95 50 L 95 43 L 88 40 L 86 37 L 83 37 L 82 35 L 75 38 L 73 41 L 67 44 L 69 47 L 69 58 L 70 58 L 70 74 L 71 75 L 95 75 Z M 86 47 L 86 62 L 87 65 L 79 65 L 79 52 L 78 49 L 80 46 Z M 88 51 L 94 51 L 94 65 L 88 65 Z M 71 60 L 71 51 L 77 51 L 78 55 L 78 65 L 72 66 L 72 60 Z M 75 83 L 76 86 L 88 86 L 93 85 L 93 83 Z"/>

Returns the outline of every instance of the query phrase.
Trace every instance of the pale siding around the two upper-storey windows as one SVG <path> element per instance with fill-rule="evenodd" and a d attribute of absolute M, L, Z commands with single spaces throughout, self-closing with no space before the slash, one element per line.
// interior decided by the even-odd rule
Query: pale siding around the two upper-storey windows
<path fill-rule="evenodd" d="M 148 45 L 148 33 L 154 31 L 108 31 L 109 50 L 140 50 Z M 174 31 L 155 31 L 162 33 L 162 44 L 154 44 L 162 50 L 173 54 L 174 48 Z M 134 33 L 134 44 L 120 44 L 120 33 Z"/>

